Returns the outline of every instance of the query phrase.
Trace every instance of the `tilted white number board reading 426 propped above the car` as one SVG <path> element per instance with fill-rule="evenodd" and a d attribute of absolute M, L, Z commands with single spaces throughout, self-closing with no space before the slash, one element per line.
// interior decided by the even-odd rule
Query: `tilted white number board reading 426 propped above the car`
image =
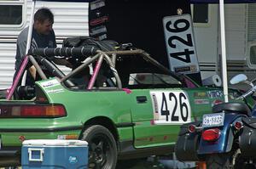
<path fill-rule="evenodd" d="M 191 16 L 166 16 L 163 25 L 171 70 L 185 74 L 199 72 Z"/>

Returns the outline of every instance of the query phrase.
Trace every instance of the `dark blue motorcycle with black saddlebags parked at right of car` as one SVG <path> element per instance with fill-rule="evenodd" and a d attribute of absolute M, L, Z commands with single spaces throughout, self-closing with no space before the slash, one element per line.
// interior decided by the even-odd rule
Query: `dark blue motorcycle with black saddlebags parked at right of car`
<path fill-rule="evenodd" d="M 248 104 L 256 86 L 240 74 L 231 84 L 251 88 L 236 102 L 215 104 L 202 121 L 183 124 L 175 146 L 179 161 L 206 161 L 207 168 L 254 168 L 256 161 L 256 106 Z"/>

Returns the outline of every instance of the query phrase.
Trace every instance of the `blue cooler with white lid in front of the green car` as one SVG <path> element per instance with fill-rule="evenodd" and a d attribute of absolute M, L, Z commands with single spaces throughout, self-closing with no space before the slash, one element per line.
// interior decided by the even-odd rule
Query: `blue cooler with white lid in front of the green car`
<path fill-rule="evenodd" d="M 33 139 L 22 143 L 22 169 L 84 169 L 88 144 L 80 140 Z"/>

